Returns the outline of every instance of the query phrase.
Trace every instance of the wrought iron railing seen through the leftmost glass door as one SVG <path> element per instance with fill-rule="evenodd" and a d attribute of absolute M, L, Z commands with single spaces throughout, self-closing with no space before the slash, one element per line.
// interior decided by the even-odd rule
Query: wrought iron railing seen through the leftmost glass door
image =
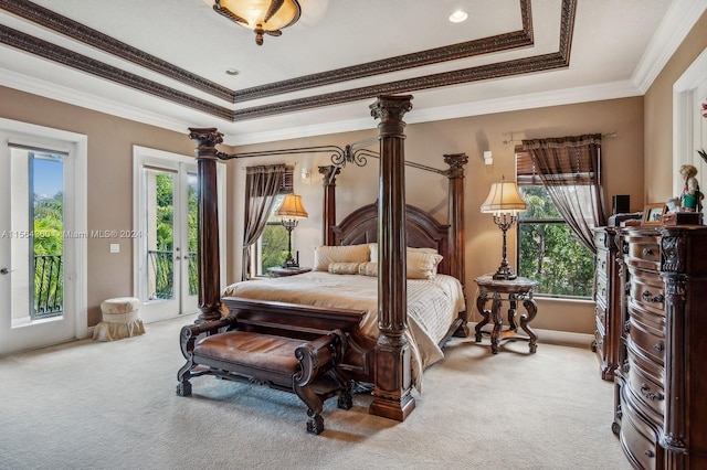
<path fill-rule="evenodd" d="M 64 264 L 62 255 L 34 256 L 34 318 L 62 314 Z"/>

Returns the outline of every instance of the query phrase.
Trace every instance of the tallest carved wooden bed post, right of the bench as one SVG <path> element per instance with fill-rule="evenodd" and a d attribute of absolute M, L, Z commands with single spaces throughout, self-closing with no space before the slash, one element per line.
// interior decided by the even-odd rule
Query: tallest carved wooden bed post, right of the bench
<path fill-rule="evenodd" d="M 405 154 L 402 116 L 412 96 L 381 96 L 371 108 L 380 119 L 378 190 L 378 327 L 373 402 L 369 413 L 399 421 L 414 409 L 408 329 Z"/>

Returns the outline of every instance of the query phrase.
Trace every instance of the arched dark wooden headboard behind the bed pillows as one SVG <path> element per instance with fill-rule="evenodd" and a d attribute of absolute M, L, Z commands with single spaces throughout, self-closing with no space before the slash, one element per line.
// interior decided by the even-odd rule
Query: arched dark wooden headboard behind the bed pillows
<path fill-rule="evenodd" d="M 441 274 L 451 274 L 450 226 L 440 224 L 426 212 L 405 205 L 408 243 L 413 248 L 435 248 L 443 256 L 437 266 Z M 357 245 L 378 241 L 378 204 L 365 205 L 351 212 L 339 225 L 333 227 L 334 245 Z"/>

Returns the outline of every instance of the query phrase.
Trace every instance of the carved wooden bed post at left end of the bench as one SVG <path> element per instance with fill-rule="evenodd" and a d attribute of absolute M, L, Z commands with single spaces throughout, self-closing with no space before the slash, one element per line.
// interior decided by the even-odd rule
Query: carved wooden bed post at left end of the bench
<path fill-rule="evenodd" d="M 221 266 L 219 258 L 219 195 L 217 180 L 217 149 L 223 135 L 215 128 L 189 128 L 189 138 L 198 142 L 197 172 L 199 178 L 199 318 L 197 323 L 221 318 Z"/>

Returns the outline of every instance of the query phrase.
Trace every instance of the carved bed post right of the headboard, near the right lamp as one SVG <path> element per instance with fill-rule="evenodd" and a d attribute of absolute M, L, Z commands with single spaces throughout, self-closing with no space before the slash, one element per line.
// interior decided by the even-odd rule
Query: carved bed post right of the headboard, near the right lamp
<path fill-rule="evenodd" d="M 450 180 L 450 207 L 447 221 L 450 221 L 450 253 L 452 258 L 450 275 L 462 282 L 462 290 L 465 291 L 465 249 L 464 249 L 464 165 L 468 163 L 466 153 L 451 153 L 444 156 L 444 162 L 450 165 L 446 170 L 446 178 Z M 464 293 L 466 297 L 466 293 Z M 456 337 L 468 337 L 466 321 L 462 322 Z"/>

